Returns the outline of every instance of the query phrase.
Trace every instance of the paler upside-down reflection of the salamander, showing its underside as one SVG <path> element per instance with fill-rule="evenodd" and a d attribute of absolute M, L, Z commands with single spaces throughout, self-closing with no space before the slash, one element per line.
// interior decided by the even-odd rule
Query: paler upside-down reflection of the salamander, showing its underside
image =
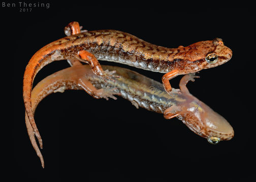
<path fill-rule="evenodd" d="M 113 95 L 117 94 L 131 101 L 137 108 L 140 106 L 150 111 L 163 113 L 166 119 L 177 117 L 192 131 L 212 144 L 233 138 L 234 130 L 229 122 L 188 92 L 186 83 L 198 77 L 195 73 L 182 77 L 179 84 L 181 94 L 172 97 L 161 83 L 137 72 L 114 66 L 102 66 L 102 68 L 116 70 L 116 74 L 120 77 L 115 81 L 104 81 L 95 75 L 88 65 L 75 65 L 43 79 L 35 86 L 31 94 L 33 115 L 39 102 L 47 95 L 64 92 L 66 89 L 83 89 L 80 85 L 82 79 L 92 90 L 100 90 L 103 96 L 116 99 Z M 172 92 L 175 92 L 174 90 Z M 44 167 L 43 156 L 37 146 L 33 127 L 27 115 L 25 117 L 30 141 Z"/>

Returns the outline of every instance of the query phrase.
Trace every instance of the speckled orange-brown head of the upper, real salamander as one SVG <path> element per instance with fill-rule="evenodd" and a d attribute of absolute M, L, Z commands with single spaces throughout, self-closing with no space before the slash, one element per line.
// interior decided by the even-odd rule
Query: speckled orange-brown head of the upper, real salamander
<path fill-rule="evenodd" d="M 200 41 L 186 47 L 184 52 L 188 61 L 197 65 L 195 70 L 213 68 L 228 62 L 232 57 L 232 51 L 223 44 L 222 39 L 215 38 L 213 40 Z M 193 64 L 195 66 L 195 64 Z M 190 69 L 193 69 L 190 68 Z"/>

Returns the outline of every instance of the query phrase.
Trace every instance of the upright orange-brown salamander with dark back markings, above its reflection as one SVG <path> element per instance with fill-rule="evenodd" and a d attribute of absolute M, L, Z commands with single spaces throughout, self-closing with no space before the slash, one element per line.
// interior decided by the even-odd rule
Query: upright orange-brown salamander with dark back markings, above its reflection
<path fill-rule="evenodd" d="M 72 33 L 68 32 L 74 35 L 45 45 L 30 59 L 25 69 L 23 100 L 29 121 L 39 140 L 40 134 L 31 109 L 31 89 L 39 70 L 53 61 L 68 59 L 89 63 L 92 71 L 105 81 L 117 76 L 113 75 L 114 71 L 103 71 L 98 59 L 166 73 L 162 77 L 164 88 L 169 94 L 175 94 L 171 92 L 172 87 L 169 82 L 173 77 L 221 65 L 232 57 L 232 51 L 220 38 L 170 49 L 117 30 L 93 30 L 79 33 L 77 28 L 79 24 L 77 22 L 75 24 L 78 26 L 70 28 Z M 93 93 L 91 95 L 93 96 Z"/>

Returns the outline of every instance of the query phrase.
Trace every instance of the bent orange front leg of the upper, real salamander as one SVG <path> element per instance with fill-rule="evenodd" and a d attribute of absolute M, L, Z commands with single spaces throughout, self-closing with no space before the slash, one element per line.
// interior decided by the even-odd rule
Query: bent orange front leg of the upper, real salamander
<path fill-rule="evenodd" d="M 175 69 L 175 70 L 172 70 L 172 71 L 166 73 L 162 77 L 162 82 L 163 82 L 164 88 L 165 88 L 166 92 L 168 94 L 170 94 L 171 96 L 173 96 L 175 94 L 181 94 L 179 92 L 179 89 L 172 90 L 172 86 L 171 86 L 170 81 L 169 81 L 170 79 L 174 78 L 178 74 L 179 74 L 179 71 Z"/>

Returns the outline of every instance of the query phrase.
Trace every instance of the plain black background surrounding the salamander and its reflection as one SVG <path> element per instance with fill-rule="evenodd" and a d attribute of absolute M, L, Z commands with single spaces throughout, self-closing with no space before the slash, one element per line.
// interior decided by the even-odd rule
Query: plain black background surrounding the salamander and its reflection
<path fill-rule="evenodd" d="M 24 1 L 23 1 L 24 2 Z M 29 2 L 27 2 L 29 3 Z M 41 1 L 40 1 L 41 3 Z M 93 2 L 91 2 L 93 3 Z M 27 181 L 173 181 L 250 179 L 255 172 L 252 147 L 254 113 L 254 20 L 250 9 L 221 7 L 132 8 L 50 3 L 50 8 L 1 8 L 4 115 L 8 134 L 5 165 L 9 179 Z M 99 7 L 100 6 L 100 7 Z M 163 8 L 164 7 L 164 8 Z M 225 117 L 235 130 L 231 141 L 209 144 L 181 121 L 136 109 L 129 101 L 95 100 L 83 91 L 48 96 L 35 119 L 43 138 L 45 169 L 25 128 L 22 78 L 29 59 L 49 42 L 64 37 L 63 28 L 78 21 L 87 30 L 117 29 L 169 48 L 222 38 L 232 59 L 202 70 L 188 83 L 190 93 Z M 6 57 L 5 57 L 6 56 Z M 101 61 L 138 71 L 161 81 L 162 73 Z M 53 62 L 36 76 L 34 85 L 69 67 Z M 251 69 L 250 69 L 251 68 Z M 181 76 L 171 80 L 177 88 Z M 6 150 L 7 149 L 7 150 Z"/>

